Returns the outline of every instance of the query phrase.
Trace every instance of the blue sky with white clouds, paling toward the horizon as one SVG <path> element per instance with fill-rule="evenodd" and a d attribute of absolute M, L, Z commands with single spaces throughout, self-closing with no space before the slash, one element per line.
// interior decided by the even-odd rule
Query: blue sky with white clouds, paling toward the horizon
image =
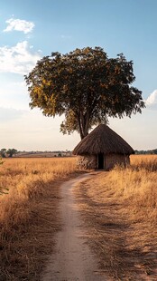
<path fill-rule="evenodd" d="M 2 1 L 1 1 L 2 2 Z M 134 86 L 146 109 L 131 119 L 110 119 L 110 127 L 134 150 L 157 148 L 156 0 L 5 0 L 0 5 L 0 149 L 73 150 L 74 133 L 63 136 L 64 117 L 29 109 L 23 79 L 51 52 L 102 47 L 108 57 L 124 53 L 134 61 Z"/>

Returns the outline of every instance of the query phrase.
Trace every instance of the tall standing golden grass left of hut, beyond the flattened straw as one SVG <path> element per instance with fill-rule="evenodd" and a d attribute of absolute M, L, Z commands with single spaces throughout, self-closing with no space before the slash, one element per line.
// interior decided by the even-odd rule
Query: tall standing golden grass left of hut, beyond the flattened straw
<path fill-rule="evenodd" d="M 30 199 L 41 197 L 54 180 L 64 179 L 75 170 L 72 158 L 5 160 L 0 168 L 0 187 L 8 192 L 0 197 L 0 223 L 7 223 L 14 204 L 23 206 Z M 18 208 L 17 211 L 20 219 Z"/>

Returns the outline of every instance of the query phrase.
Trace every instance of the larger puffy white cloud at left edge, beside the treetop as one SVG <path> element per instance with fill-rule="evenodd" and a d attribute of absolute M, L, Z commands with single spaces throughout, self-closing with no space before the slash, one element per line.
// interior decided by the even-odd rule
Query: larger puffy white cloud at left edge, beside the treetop
<path fill-rule="evenodd" d="M 34 53 L 27 41 L 13 47 L 0 47 L 0 73 L 29 73 L 41 59 L 41 52 Z"/>

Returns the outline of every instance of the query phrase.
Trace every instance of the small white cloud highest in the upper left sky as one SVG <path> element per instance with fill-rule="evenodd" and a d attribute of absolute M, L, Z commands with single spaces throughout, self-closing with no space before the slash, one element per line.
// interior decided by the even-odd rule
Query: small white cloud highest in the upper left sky
<path fill-rule="evenodd" d="M 4 29 L 4 32 L 22 31 L 24 34 L 29 34 L 32 32 L 34 24 L 32 22 L 27 22 L 25 20 L 10 18 L 5 21 L 7 27 Z"/>

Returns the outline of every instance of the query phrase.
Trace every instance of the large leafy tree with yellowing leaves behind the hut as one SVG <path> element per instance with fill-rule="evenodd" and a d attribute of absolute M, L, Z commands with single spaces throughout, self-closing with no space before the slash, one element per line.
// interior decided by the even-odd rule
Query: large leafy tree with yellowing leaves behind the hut
<path fill-rule="evenodd" d="M 133 62 L 123 53 L 109 59 L 100 47 L 45 56 L 25 76 L 31 108 L 46 116 L 65 114 L 63 133 L 78 131 L 81 139 L 107 117 L 131 117 L 144 107 L 142 92 L 131 86 Z"/>

